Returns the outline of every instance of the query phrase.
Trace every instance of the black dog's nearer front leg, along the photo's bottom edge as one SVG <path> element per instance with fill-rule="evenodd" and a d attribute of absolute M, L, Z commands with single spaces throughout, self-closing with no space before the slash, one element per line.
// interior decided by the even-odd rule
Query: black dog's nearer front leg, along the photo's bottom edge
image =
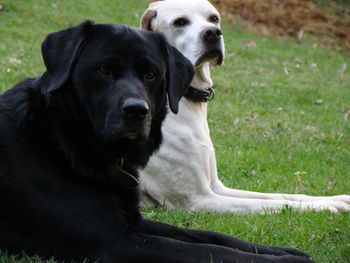
<path fill-rule="evenodd" d="M 223 246 L 189 243 L 158 235 L 135 232 L 116 247 L 112 258 L 102 262 L 125 263 L 312 263 L 299 256 L 272 256 L 243 252 Z"/>

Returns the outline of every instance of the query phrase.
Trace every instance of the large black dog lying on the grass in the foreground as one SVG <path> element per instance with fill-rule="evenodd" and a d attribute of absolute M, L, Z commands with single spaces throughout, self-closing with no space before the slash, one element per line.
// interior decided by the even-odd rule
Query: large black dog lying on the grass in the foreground
<path fill-rule="evenodd" d="M 145 220 L 137 168 L 193 76 L 158 33 L 85 22 L 50 34 L 47 71 L 0 97 L 0 249 L 120 263 L 304 262 L 295 249 Z M 174 127 L 176 129 L 176 127 Z"/>

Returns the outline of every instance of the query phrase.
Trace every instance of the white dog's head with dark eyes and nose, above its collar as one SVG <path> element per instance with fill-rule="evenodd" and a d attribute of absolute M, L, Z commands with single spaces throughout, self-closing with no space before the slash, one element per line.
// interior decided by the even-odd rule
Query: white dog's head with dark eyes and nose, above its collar
<path fill-rule="evenodd" d="M 213 85 L 209 66 L 223 63 L 224 41 L 220 15 L 207 0 L 153 2 L 142 16 L 141 27 L 162 32 L 192 62 L 196 73 L 191 86 Z"/>

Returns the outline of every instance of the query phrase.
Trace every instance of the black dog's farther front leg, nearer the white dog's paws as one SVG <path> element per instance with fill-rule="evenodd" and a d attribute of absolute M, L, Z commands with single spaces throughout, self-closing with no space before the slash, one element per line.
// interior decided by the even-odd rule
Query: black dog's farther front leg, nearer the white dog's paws
<path fill-rule="evenodd" d="M 266 254 L 275 256 L 294 255 L 309 258 L 306 253 L 294 248 L 269 247 L 243 241 L 221 233 L 186 229 L 146 219 L 143 219 L 140 225 L 140 232 L 181 240 L 189 243 L 213 244 L 217 246 L 229 247 L 254 254 Z"/>

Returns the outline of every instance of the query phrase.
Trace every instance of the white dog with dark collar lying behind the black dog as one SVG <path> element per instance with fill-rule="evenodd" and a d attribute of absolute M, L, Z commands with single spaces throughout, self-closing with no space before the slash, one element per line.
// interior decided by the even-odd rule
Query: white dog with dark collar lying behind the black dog
<path fill-rule="evenodd" d="M 163 125 L 164 141 L 141 171 L 147 203 L 189 211 L 242 212 L 297 209 L 347 211 L 350 196 L 313 197 L 265 194 L 225 187 L 218 179 L 215 152 L 207 123 L 213 96 L 210 66 L 224 58 L 220 15 L 206 0 L 165 0 L 151 3 L 141 27 L 162 32 L 195 66 L 189 93 Z"/>

